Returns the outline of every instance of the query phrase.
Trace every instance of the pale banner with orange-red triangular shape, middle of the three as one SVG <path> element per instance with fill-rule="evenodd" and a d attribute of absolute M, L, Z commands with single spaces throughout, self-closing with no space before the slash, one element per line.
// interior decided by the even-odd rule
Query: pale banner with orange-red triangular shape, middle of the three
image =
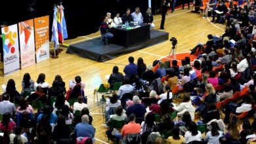
<path fill-rule="evenodd" d="M 33 19 L 18 23 L 20 35 L 21 69 L 35 64 L 35 37 Z"/>

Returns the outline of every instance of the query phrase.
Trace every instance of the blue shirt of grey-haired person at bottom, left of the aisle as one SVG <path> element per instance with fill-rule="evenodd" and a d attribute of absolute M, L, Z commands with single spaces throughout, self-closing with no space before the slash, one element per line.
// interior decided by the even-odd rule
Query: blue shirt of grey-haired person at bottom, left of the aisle
<path fill-rule="evenodd" d="M 75 126 L 74 130 L 75 137 L 95 137 L 95 128 L 85 122 L 80 122 Z"/>

